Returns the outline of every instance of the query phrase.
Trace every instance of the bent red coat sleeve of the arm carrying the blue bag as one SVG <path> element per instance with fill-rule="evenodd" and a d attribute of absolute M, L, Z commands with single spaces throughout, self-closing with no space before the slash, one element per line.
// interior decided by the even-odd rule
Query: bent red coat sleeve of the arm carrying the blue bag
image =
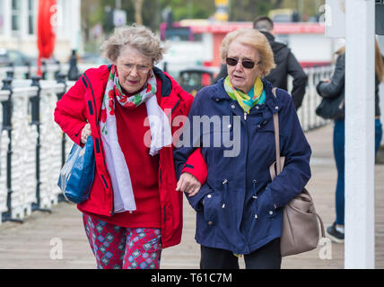
<path fill-rule="evenodd" d="M 55 121 L 61 127 L 63 132 L 68 135 L 74 143 L 82 145 L 81 132 L 87 123 L 86 108 L 85 108 L 85 87 L 82 78 L 80 78 L 74 86 L 69 89 L 57 101 L 55 109 Z"/>

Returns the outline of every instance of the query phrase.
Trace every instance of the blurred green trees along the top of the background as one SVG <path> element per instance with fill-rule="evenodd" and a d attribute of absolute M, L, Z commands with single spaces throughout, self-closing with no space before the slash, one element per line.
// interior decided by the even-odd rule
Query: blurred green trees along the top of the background
<path fill-rule="evenodd" d="M 257 16 L 267 15 L 269 10 L 278 8 L 292 8 L 310 18 L 319 13 L 319 6 L 325 0 L 231 0 L 229 21 L 253 21 Z M 90 40 L 90 30 L 97 23 L 101 23 L 104 32 L 113 30 L 111 13 L 116 0 L 82 0 L 82 30 L 84 40 Z M 170 6 L 173 20 L 209 19 L 214 15 L 214 0 L 131 0 L 121 1 L 121 9 L 127 12 L 127 24 L 143 23 L 154 31 L 158 31 L 161 12 Z M 305 17 L 304 17 L 305 19 Z"/>

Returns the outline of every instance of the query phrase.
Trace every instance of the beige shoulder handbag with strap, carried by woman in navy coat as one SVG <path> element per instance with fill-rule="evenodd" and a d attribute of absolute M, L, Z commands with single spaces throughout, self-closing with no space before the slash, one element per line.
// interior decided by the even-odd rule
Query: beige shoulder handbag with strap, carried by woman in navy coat
<path fill-rule="evenodd" d="M 273 92 L 275 94 L 275 89 Z M 284 157 L 280 156 L 278 113 L 274 114 L 274 126 L 276 159 L 280 159 L 280 161 L 275 161 L 269 168 L 272 179 L 275 178 L 275 173 L 279 174 L 283 170 L 285 160 Z M 324 224 L 319 214 L 316 213 L 310 193 L 303 188 L 301 194 L 294 196 L 292 201 L 286 204 L 283 209 L 283 230 L 280 239 L 282 257 L 317 248 L 320 235 L 321 237 L 325 236 Z"/>

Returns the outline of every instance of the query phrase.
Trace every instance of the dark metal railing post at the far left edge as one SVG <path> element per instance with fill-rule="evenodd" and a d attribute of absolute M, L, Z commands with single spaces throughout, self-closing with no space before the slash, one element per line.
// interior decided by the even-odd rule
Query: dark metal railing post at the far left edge
<path fill-rule="evenodd" d="M 13 100 L 12 100 L 12 78 L 5 78 L 3 80 L 3 91 L 10 91 L 8 100 L 2 101 L 3 106 L 3 128 L 8 133 L 8 150 L 6 152 L 6 207 L 7 212 L 2 214 L 3 221 L 21 222 L 20 219 L 12 218 L 12 113 L 13 113 Z"/>

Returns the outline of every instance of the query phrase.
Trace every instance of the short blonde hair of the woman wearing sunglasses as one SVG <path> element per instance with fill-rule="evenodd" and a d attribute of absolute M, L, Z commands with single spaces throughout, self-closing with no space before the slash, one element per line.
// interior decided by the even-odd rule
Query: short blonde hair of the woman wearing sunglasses
<path fill-rule="evenodd" d="M 269 72 L 275 68 L 274 52 L 269 45 L 266 36 L 255 29 L 238 29 L 228 33 L 220 47 L 220 57 L 223 63 L 228 55 L 228 48 L 233 40 L 239 41 L 243 45 L 248 45 L 255 48 L 260 56 L 260 64 L 258 65 L 261 71 L 261 77 L 265 77 Z"/>

